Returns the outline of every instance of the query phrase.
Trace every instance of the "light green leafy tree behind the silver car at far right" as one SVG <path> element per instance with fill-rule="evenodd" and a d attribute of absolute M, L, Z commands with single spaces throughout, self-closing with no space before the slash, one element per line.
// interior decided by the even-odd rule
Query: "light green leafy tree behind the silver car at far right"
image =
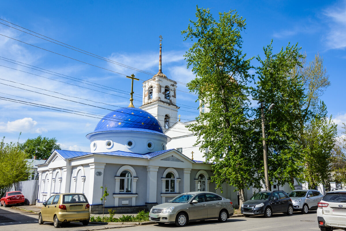
<path fill-rule="evenodd" d="M 304 157 L 304 178 L 311 188 L 318 184 L 328 185 L 331 175 L 331 164 L 333 161 L 332 150 L 335 145 L 337 125 L 328 119 L 327 111 L 322 102 L 321 115 L 316 115 L 305 127 L 302 142 L 305 147 Z"/>

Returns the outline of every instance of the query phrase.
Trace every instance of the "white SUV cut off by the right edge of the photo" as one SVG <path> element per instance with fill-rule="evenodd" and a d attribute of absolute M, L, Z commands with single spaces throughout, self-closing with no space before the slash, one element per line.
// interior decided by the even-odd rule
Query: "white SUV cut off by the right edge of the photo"
<path fill-rule="evenodd" d="M 346 230 L 346 190 L 330 191 L 318 202 L 317 221 L 321 231 Z"/>

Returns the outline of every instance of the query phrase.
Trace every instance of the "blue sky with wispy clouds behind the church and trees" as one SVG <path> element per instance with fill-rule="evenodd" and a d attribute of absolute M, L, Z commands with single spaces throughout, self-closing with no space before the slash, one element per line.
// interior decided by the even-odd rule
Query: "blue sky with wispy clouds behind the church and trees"
<path fill-rule="evenodd" d="M 298 42 L 307 61 L 319 53 L 331 82 L 321 99 L 335 123 L 346 122 L 346 1 L 12 0 L 1 2 L 0 23 L 152 74 L 158 71 L 158 36 L 162 35 L 163 73 L 187 83 L 194 75 L 186 69 L 183 55 L 191 41 L 183 41 L 181 30 L 187 28 L 189 19 L 195 20 L 196 5 L 210 8 L 216 18 L 219 11 L 230 9 L 246 18 L 242 36 L 247 57 L 263 57 L 263 46 L 271 39 L 274 52 L 289 42 Z M 90 151 L 85 135 L 110 110 L 129 104 L 130 80 L 126 75 L 135 74 L 140 79 L 134 85 L 134 105 L 142 105 L 142 82 L 151 74 L 73 51 L 3 24 L 0 134 L 6 136 L 6 142 L 17 141 L 22 132 L 19 142 L 42 135 L 56 137 L 63 149 Z M 252 64 L 257 65 L 256 61 Z M 182 121 L 193 120 L 198 115 L 197 97 L 181 83 L 177 85 L 178 114 Z M 10 99 L 21 100 L 21 104 Z M 89 117 L 61 112 L 66 109 L 88 113 L 84 115 Z M 338 129 L 340 134 L 341 127 Z"/>

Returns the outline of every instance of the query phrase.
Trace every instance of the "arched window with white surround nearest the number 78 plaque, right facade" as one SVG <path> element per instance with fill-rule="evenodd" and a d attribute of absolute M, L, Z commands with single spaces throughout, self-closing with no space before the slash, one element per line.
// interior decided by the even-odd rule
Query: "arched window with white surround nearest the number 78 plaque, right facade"
<path fill-rule="evenodd" d="M 114 204 L 119 206 L 119 198 L 131 198 L 131 205 L 136 205 L 137 174 L 133 167 L 124 165 L 119 168 L 115 178 Z"/>

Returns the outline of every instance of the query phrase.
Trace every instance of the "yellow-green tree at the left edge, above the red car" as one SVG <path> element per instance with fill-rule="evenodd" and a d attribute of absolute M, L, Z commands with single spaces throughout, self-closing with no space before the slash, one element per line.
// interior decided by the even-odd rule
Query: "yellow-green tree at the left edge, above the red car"
<path fill-rule="evenodd" d="M 19 143 L 4 143 L 4 138 L 0 142 L 0 188 L 16 184 L 19 181 L 28 179 L 27 154 L 20 150 Z"/>

